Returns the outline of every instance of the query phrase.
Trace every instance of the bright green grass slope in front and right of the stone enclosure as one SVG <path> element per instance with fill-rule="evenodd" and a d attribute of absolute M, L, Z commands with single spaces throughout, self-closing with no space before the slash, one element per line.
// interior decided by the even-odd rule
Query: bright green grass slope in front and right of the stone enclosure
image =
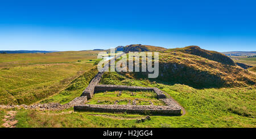
<path fill-rule="evenodd" d="M 256 120 L 252 117 L 256 116 L 256 88 L 253 86 L 194 89 L 187 85 L 164 85 L 148 80 L 127 79 L 118 73 L 105 73 L 101 83 L 157 87 L 175 98 L 187 114 L 151 116 L 150 121 L 135 123 L 136 118 L 145 115 L 101 112 L 56 115 L 61 111 L 46 111 L 51 114 L 44 114 L 45 112 L 36 110 L 18 110 L 17 127 L 256 127 Z"/>

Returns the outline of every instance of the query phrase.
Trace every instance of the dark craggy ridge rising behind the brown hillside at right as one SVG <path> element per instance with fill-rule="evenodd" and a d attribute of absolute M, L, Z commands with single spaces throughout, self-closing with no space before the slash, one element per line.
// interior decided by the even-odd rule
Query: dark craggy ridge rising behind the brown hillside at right
<path fill-rule="evenodd" d="M 226 55 L 218 53 L 217 51 L 209 51 L 201 49 L 199 46 L 187 46 L 183 48 L 175 48 L 175 49 L 168 49 L 166 52 L 171 51 L 180 51 L 182 53 L 197 55 L 199 57 L 207 58 L 209 60 L 214 60 L 216 62 L 220 62 L 223 64 L 230 64 L 236 65 L 232 59 L 226 57 Z"/>

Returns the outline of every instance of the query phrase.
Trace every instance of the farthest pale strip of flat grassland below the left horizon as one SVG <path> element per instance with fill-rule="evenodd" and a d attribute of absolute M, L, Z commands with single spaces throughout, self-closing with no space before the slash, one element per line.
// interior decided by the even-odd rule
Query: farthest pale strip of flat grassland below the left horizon
<path fill-rule="evenodd" d="M 0 54 L 0 68 L 32 64 L 76 63 L 96 59 L 99 51 L 61 51 L 46 54 Z"/>

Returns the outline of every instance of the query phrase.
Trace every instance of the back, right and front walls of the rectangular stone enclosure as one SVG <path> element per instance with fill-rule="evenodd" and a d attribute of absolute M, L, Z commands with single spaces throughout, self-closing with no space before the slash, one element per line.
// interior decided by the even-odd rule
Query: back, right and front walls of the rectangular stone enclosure
<path fill-rule="evenodd" d="M 77 105 L 74 106 L 75 111 L 100 111 L 100 112 L 127 112 L 133 114 L 159 114 L 159 115 L 181 115 L 181 108 L 176 102 L 167 98 L 166 95 L 158 88 L 146 88 L 141 86 L 126 85 L 95 85 L 93 93 L 114 90 L 130 90 L 130 91 L 153 91 L 158 99 L 166 103 L 167 106 L 155 105 Z"/>

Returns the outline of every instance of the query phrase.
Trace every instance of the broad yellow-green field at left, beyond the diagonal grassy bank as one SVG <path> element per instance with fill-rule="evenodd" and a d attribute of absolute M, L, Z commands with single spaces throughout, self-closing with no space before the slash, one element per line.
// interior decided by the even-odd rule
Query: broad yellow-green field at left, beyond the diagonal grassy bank
<path fill-rule="evenodd" d="M 58 93 L 98 62 L 90 61 L 97 53 L 0 54 L 0 104 L 31 104 Z"/>

